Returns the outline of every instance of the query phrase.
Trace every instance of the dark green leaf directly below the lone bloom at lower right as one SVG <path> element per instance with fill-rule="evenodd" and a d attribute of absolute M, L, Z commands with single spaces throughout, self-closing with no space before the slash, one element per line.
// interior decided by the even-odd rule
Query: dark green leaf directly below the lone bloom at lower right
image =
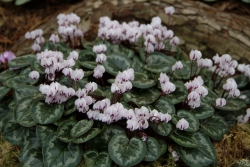
<path fill-rule="evenodd" d="M 170 138 L 184 147 L 197 148 L 199 146 L 199 142 L 196 140 L 194 134 L 190 132 L 176 130 L 170 135 Z"/>

